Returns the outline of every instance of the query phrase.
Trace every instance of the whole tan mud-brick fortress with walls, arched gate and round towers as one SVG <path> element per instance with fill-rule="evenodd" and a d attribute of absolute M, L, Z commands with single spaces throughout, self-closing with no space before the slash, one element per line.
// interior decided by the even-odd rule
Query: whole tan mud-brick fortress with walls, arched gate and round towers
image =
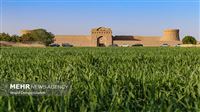
<path fill-rule="evenodd" d="M 22 30 L 21 34 L 30 33 L 31 30 Z M 163 36 L 113 36 L 110 28 L 99 27 L 91 30 L 90 35 L 55 35 L 54 43 L 69 43 L 73 46 L 98 47 L 110 45 L 134 45 L 160 46 L 168 44 L 175 46 L 181 44 L 178 29 L 168 29 L 163 32 Z"/>

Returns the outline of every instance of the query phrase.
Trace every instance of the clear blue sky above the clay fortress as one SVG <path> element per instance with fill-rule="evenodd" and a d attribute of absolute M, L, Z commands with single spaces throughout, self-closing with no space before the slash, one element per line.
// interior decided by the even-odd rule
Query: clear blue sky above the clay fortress
<path fill-rule="evenodd" d="M 179 28 L 199 39 L 199 0 L 2 0 L 1 32 L 44 28 L 54 34 L 88 35 L 105 26 L 114 35 L 161 36 Z"/>

